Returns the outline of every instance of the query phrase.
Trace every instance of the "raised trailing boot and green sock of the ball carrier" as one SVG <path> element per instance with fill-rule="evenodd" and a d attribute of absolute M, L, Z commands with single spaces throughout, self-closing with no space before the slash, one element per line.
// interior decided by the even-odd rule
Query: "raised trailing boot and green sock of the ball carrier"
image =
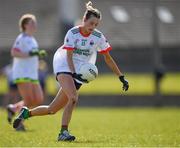
<path fill-rule="evenodd" d="M 23 107 L 13 122 L 13 128 L 18 128 L 22 124 L 22 121 L 27 118 L 29 118 L 29 110 L 27 107 Z"/>

